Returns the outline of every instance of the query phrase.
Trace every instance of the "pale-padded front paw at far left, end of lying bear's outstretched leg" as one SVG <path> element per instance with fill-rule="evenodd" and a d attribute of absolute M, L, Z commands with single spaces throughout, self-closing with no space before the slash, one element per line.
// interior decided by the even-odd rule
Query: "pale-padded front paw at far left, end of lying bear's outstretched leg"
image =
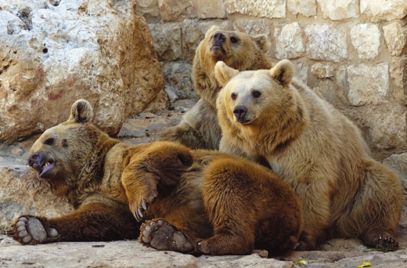
<path fill-rule="evenodd" d="M 54 228 L 45 230 L 43 223 L 36 217 L 23 216 L 14 224 L 13 238 L 22 245 L 35 245 L 47 243 L 49 238 L 58 236 Z"/>

